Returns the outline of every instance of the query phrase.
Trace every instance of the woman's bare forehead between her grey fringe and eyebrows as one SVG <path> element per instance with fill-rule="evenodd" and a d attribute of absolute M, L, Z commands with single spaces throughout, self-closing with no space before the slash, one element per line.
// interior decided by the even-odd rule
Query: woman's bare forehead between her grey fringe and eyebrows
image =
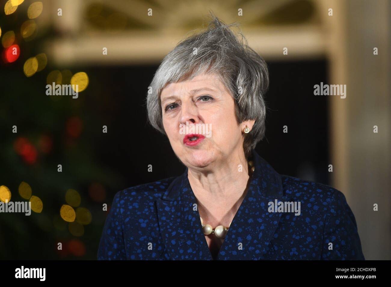
<path fill-rule="evenodd" d="M 160 98 L 163 100 L 169 96 L 179 96 L 179 94 L 194 94 L 202 91 L 215 91 L 222 93 L 225 90 L 221 78 L 216 73 L 200 74 L 194 78 L 179 80 L 176 83 L 167 83 L 160 93 Z"/>

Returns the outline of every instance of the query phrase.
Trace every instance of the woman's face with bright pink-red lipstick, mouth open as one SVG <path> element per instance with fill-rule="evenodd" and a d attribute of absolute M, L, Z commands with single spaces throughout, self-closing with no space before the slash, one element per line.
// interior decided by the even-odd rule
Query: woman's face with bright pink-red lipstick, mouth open
<path fill-rule="evenodd" d="M 234 99 L 219 75 L 200 74 L 192 80 L 169 83 L 160 98 L 164 130 L 174 153 L 186 166 L 213 168 L 244 153 L 245 123 L 237 123 Z"/>

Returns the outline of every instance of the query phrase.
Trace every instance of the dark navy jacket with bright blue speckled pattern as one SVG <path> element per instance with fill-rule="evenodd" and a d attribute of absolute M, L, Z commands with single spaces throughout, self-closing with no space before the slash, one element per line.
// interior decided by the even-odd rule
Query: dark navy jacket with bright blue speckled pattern
<path fill-rule="evenodd" d="M 255 150 L 253 161 L 217 260 L 365 260 L 343 193 L 280 175 Z M 98 260 L 213 260 L 187 171 L 115 194 Z"/>

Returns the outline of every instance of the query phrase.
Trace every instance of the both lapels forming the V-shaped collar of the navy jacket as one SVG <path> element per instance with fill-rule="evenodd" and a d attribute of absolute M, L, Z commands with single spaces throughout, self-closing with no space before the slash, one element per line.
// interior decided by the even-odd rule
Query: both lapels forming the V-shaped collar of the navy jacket
<path fill-rule="evenodd" d="M 255 171 L 220 248 L 218 260 L 263 259 L 280 220 L 281 213 L 270 213 L 267 209 L 269 201 L 285 200 L 281 176 L 255 150 L 252 155 Z M 188 168 L 156 201 L 161 235 L 172 259 L 212 260 L 199 212 L 194 207 L 197 200 L 187 172 Z"/>

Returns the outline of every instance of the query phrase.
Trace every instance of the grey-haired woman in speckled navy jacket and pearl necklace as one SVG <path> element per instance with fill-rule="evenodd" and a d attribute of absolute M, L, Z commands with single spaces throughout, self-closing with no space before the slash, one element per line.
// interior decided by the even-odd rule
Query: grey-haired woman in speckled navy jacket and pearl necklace
<path fill-rule="evenodd" d="M 244 42 L 214 17 L 163 59 L 149 121 L 187 168 L 115 195 L 98 259 L 364 259 L 340 191 L 279 175 L 255 152 L 269 77 Z"/>

